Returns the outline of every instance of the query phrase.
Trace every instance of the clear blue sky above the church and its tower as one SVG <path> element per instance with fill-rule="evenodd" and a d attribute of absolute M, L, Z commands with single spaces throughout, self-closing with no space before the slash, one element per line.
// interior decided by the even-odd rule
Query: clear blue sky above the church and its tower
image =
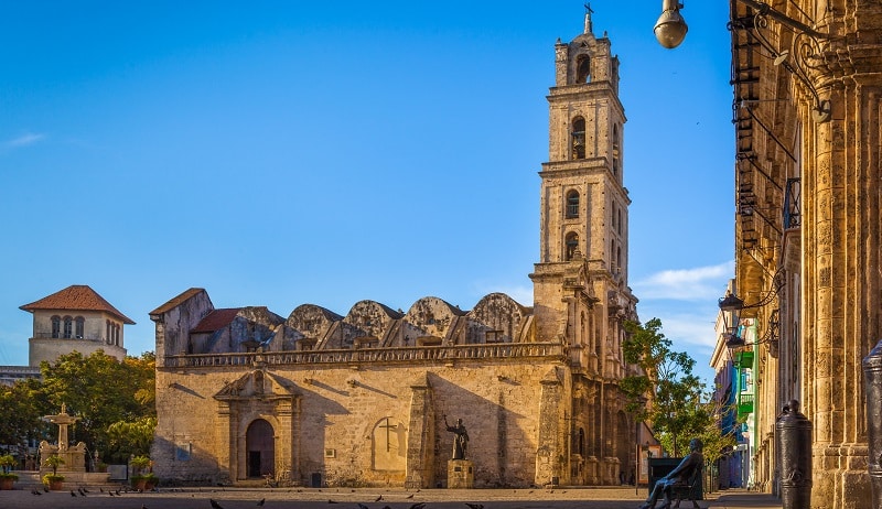
<path fill-rule="evenodd" d="M 727 2 L 595 0 L 621 59 L 630 284 L 642 321 L 707 367 L 733 271 Z M 553 45 L 576 1 L 7 2 L 0 10 L 0 365 L 20 305 L 88 284 L 137 322 L 370 299 L 525 305 L 539 253 Z"/>

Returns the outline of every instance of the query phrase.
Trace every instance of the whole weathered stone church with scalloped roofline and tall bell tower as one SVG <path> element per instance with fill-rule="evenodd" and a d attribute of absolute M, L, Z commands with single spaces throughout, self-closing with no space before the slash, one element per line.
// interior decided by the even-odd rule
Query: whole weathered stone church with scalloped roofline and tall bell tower
<path fill-rule="evenodd" d="M 215 308 L 190 289 L 150 313 L 154 472 L 166 480 L 447 486 L 462 419 L 475 487 L 617 485 L 639 423 L 619 381 L 628 205 L 619 59 L 584 32 L 555 45 L 533 305 L 493 293 L 470 311 L 314 304 L 288 317 Z M 525 185 L 528 181 L 525 175 Z"/>

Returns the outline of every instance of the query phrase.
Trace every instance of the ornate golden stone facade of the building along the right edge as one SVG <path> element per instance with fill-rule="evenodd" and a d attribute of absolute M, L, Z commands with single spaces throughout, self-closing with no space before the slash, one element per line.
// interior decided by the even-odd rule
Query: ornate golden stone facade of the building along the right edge
<path fill-rule="evenodd" d="M 796 399 L 814 423 L 811 506 L 869 508 L 861 359 L 882 337 L 882 6 L 770 1 L 764 15 L 730 3 L 754 480 L 776 490 L 774 423 Z"/>

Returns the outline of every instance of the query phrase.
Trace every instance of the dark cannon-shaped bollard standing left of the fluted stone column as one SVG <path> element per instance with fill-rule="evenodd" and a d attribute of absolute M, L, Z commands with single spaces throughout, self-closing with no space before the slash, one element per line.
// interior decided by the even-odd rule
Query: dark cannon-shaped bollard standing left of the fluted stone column
<path fill-rule="evenodd" d="M 784 509 L 811 507 L 811 421 L 790 400 L 775 423 L 781 457 L 781 502 Z"/>

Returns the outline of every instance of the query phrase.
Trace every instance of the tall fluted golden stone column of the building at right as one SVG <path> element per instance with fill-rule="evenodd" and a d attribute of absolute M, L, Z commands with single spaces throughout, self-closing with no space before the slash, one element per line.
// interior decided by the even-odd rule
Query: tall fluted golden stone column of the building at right
<path fill-rule="evenodd" d="M 858 7 L 856 19 L 873 19 L 870 9 Z M 816 507 L 832 509 L 865 507 L 870 500 L 861 359 L 882 337 L 882 47 L 847 46 L 840 53 L 840 62 L 848 59 L 845 77 L 826 90 L 832 119 L 804 126 L 803 379 L 806 412 L 815 423 L 811 498 Z"/>

